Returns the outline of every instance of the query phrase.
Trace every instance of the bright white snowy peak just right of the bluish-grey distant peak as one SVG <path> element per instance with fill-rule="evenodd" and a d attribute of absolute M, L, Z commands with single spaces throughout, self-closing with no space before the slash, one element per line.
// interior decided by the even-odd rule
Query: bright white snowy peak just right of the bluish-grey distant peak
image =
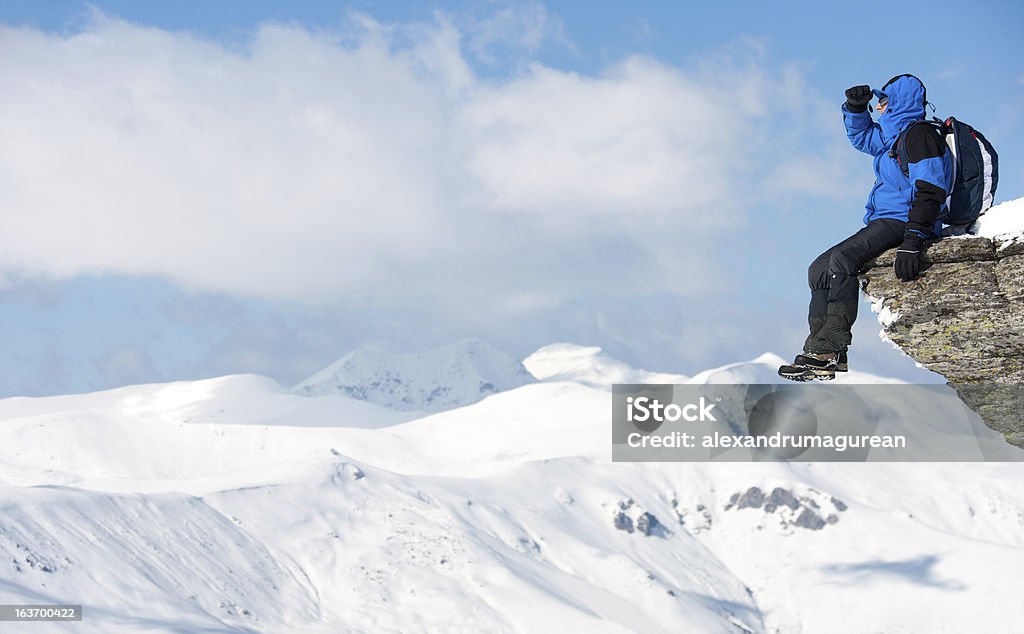
<path fill-rule="evenodd" d="M 614 383 L 686 383 L 681 374 L 637 370 L 609 356 L 597 346 L 572 343 L 546 345 L 522 362 L 526 370 L 542 381 L 577 381 L 594 387 Z"/>

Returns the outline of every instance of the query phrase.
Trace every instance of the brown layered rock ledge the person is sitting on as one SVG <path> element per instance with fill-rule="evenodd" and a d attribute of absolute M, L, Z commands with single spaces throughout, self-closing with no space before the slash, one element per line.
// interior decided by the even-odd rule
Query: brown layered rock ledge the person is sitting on
<path fill-rule="evenodd" d="M 1024 448 L 1024 241 L 940 240 L 908 283 L 893 273 L 895 256 L 887 251 L 861 271 L 876 307 L 888 309 L 880 319 L 886 336 Z"/>

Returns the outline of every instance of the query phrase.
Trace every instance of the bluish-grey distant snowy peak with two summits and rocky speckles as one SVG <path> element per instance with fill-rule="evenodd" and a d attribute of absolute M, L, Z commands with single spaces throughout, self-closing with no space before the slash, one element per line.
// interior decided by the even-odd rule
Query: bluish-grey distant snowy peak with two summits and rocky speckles
<path fill-rule="evenodd" d="M 522 364 L 479 339 L 416 353 L 358 348 L 293 388 L 402 412 L 441 412 L 534 381 Z"/>

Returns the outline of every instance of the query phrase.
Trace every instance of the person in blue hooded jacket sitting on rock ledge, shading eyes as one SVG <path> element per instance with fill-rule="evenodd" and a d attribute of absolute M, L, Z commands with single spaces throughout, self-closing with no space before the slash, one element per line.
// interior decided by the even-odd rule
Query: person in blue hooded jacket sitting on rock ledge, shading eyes
<path fill-rule="evenodd" d="M 879 101 L 879 120 L 867 104 Z M 847 371 L 847 346 L 857 319 L 857 272 L 884 251 L 898 246 L 896 277 L 908 282 L 921 270 L 921 252 L 929 238 L 939 236 L 939 211 L 952 186 L 952 160 L 934 126 L 912 126 L 925 119 L 925 85 L 912 75 L 898 75 L 879 90 L 854 86 L 846 91 L 843 121 L 850 142 L 874 158 L 874 186 L 867 197 L 865 226 L 819 255 L 808 268 L 811 305 L 810 335 L 804 353 L 778 369 L 795 381 L 834 379 Z M 909 129 L 908 129 L 909 128 Z M 899 165 L 896 141 L 905 139 L 909 174 Z"/>

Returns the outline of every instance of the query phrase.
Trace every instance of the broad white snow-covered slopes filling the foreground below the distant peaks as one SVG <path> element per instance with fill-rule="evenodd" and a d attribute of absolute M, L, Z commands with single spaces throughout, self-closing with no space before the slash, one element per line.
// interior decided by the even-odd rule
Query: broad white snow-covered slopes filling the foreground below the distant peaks
<path fill-rule="evenodd" d="M 1024 465 L 612 463 L 608 391 L 575 369 L 598 380 L 397 424 L 252 376 L 0 400 L 0 603 L 82 603 L 74 631 L 104 633 L 1024 621 Z"/>

